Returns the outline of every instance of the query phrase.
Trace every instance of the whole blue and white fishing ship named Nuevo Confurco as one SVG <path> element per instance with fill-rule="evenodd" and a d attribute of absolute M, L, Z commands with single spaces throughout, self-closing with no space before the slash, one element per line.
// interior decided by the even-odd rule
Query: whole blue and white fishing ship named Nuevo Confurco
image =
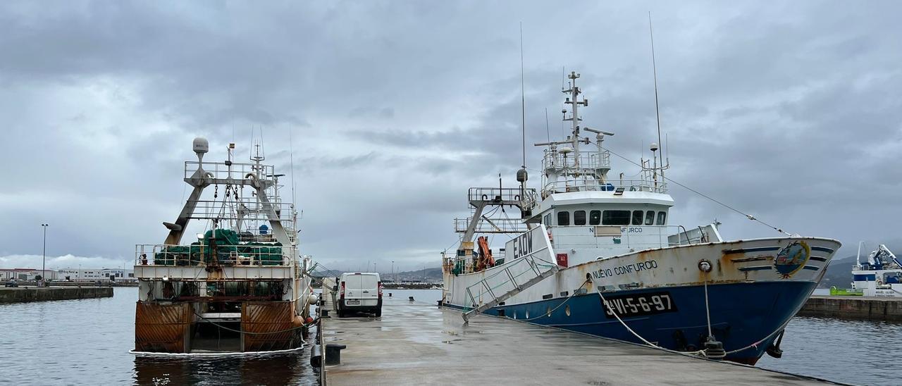
<path fill-rule="evenodd" d="M 537 143 L 538 192 L 526 188 L 525 167 L 517 188 L 470 188 L 472 216 L 456 220 L 460 247 L 443 256 L 443 305 L 465 320 L 484 313 L 738 363 L 779 356 L 775 340 L 840 243 L 797 234 L 727 241 L 718 223 L 671 224 L 658 145 L 640 179 L 611 178 L 603 141 L 613 133 L 582 125 L 579 74 L 568 78 L 572 133 Z M 492 207 L 521 216 L 492 217 Z M 477 234 L 516 235 L 492 251 Z"/>

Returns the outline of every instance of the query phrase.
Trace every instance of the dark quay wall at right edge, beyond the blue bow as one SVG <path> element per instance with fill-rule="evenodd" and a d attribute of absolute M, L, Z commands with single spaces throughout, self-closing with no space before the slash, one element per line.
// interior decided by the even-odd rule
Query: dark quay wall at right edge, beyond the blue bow
<path fill-rule="evenodd" d="M 798 315 L 902 321 L 902 299 L 814 295 L 808 299 Z"/>

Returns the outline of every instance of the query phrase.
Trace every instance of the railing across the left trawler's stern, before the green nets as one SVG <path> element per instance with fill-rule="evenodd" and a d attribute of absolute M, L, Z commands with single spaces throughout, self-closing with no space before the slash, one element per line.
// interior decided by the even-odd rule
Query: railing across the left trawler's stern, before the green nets
<path fill-rule="evenodd" d="M 136 244 L 134 265 L 163 266 L 291 266 L 291 247 L 276 244 L 216 245 Z"/>

